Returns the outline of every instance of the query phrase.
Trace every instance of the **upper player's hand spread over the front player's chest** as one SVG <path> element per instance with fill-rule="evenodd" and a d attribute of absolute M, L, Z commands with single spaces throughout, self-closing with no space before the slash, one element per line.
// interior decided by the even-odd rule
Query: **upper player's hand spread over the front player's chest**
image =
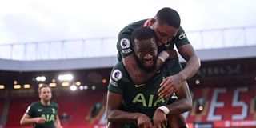
<path fill-rule="evenodd" d="M 170 95 L 174 94 L 182 86 L 182 77 L 178 74 L 166 77 L 162 80 L 160 86 L 158 95 L 162 98 L 169 98 Z"/>

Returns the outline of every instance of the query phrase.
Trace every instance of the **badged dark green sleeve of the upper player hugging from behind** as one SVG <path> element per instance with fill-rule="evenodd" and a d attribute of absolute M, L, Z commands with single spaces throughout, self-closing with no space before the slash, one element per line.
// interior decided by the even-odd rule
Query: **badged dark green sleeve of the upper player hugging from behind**
<path fill-rule="evenodd" d="M 122 61 L 122 58 L 128 56 L 133 50 L 131 45 L 131 33 L 121 32 L 118 35 L 118 61 Z"/>

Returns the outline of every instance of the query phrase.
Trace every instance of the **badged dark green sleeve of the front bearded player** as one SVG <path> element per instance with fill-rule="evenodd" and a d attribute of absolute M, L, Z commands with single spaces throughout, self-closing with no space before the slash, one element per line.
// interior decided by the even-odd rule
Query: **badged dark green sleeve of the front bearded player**
<path fill-rule="evenodd" d="M 120 62 L 118 62 L 120 63 Z M 118 66 L 114 66 L 111 76 L 110 76 L 110 83 L 108 86 L 108 90 L 110 92 L 113 92 L 115 94 L 123 94 L 124 92 L 124 86 L 123 86 L 123 72 L 122 69 L 118 68 Z"/>

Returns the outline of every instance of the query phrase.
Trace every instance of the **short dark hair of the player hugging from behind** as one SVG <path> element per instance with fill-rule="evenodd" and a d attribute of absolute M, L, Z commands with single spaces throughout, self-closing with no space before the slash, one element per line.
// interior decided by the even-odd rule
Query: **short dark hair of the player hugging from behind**
<path fill-rule="evenodd" d="M 167 24 L 169 26 L 174 26 L 176 29 L 181 25 L 181 18 L 176 10 L 169 7 L 162 8 L 158 10 L 156 19 L 160 24 Z"/>

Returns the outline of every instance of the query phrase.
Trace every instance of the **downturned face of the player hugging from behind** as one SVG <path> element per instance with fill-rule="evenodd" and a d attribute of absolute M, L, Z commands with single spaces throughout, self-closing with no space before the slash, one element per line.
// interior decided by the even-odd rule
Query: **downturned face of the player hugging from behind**
<path fill-rule="evenodd" d="M 176 36 L 178 33 L 178 29 L 174 28 L 173 26 L 168 26 L 166 24 L 160 24 L 158 20 L 156 20 L 151 26 L 151 29 L 158 36 L 158 46 L 162 46 L 169 42 L 172 38 Z"/>

